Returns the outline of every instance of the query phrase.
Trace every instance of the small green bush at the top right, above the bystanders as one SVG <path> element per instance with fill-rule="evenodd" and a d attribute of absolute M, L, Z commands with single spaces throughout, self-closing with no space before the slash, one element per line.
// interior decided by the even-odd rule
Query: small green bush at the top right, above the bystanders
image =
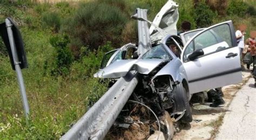
<path fill-rule="evenodd" d="M 247 10 L 247 4 L 238 0 L 232 0 L 227 8 L 227 15 L 234 16 L 237 15 L 239 17 L 245 17 Z"/>

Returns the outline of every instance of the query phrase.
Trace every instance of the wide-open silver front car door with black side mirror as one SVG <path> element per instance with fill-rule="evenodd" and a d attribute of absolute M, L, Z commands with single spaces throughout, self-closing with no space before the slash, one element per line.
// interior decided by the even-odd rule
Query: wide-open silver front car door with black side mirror
<path fill-rule="evenodd" d="M 190 93 L 242 81 L 232 21 L 211 26 L 187 41 L 181 53 Z"/>

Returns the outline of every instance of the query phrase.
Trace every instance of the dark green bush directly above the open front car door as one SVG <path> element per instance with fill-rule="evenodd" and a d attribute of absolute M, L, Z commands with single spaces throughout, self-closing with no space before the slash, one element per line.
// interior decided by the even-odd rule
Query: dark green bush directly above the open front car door
<path fill-rule="evenodd" d="M 211 25 L 213 23 L 213 18 L 217 16 L 217 14 L 214 13 L 204 2 L 199 2 L 197 4 L 194 15 L 197 27 L 206 27 Z"/>

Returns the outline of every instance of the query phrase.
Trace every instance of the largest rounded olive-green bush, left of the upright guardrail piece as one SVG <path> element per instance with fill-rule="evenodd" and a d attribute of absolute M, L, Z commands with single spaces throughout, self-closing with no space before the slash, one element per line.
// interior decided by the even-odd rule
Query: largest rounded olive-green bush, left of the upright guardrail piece
<path fill-rule="evenodd" d="M 97 50 L 98 46 L 104 45 L 107 41 L 119 46 L 122 44 L 120 34 L 128 18 L 130 17 L 116 6 L 106 3 L 84 3 L 75 16 L 66 21 L 64 31 L 82 46 L 89 46 L 90 50 Z"/>

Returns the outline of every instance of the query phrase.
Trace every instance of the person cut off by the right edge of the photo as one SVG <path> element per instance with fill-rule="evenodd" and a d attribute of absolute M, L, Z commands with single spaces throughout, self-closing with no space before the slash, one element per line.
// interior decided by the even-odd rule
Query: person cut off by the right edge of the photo
<path fill-rule="evenodd" d="M 248 45 L 249 45 L 249 50 L 252 55 L 253 59 L 253 78 L 254 78 L 254 87 L 256 87 L 256 31 L 251 31 L 250 33 L 250 38 L 248 38 Z"/>

